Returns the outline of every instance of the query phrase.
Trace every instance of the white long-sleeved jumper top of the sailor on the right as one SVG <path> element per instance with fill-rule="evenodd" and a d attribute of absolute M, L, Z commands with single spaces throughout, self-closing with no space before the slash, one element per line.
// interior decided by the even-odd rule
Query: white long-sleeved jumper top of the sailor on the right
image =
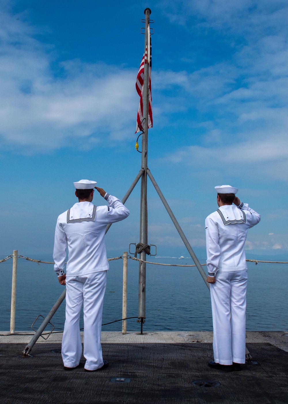
<path fill-rule="evenodd" d="M 205 220 L 208 275 L 247 269 L 247 232 L 260 221 L 259 213 L 243 202 L 223 205 Z"/>

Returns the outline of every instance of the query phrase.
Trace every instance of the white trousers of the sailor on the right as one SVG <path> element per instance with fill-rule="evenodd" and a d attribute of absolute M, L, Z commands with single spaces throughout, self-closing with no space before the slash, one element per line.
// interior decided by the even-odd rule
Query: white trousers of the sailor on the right
<path fill-rule="evenodd" d="M 214 361 L 245 363 L 247 270 L 216 272 L 215 278 L 210 284 Z"/>

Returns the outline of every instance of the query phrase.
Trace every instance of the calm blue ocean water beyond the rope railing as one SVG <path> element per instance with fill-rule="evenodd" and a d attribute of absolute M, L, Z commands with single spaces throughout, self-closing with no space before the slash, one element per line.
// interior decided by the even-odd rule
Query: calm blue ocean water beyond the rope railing
<path fill-rule="evenodd" d="M 51 257 L 33 257 L 52 261 Z M 153 258 L 161 263 L 192 264 L 192 259 Z M 205 263 L 205 259 L 200 260 Z M 204 267 L 206 269 L 206 267 Z M 139 264 L 128 260 L 127 317 L 138 315 Z M 207 269 L 206 269 L 207 270 Z M 247 330 L 286 331 L 288 286 L 286 264 L 248 263 Z M 110 261 L 102 322 L 122 318 L 123 261 Z M 0 263 L 0 330 L 10 329 L 12 259 Z M 18 259 L 15 329 L 31 330 L 38 316 L 48 314 L 63 291 L 53 271 L 53 265 Z M 127 330 L 140 330 L 137 319 L 127 320 Z M 65 301 L 51 322 L 55 330 L 63 330 Z M 36 326 L 40 325 L 38 320 Z M 83 317 L 80 326 L 83 327 Z M 106 331 L 120 331 L 122 323 L 102 327 Z M 49 329 L 49 327 L 47 328 Z M 210 294 L 195 267 L 146 267 L 146 323 L 151 330 L 212 330 Z"/>

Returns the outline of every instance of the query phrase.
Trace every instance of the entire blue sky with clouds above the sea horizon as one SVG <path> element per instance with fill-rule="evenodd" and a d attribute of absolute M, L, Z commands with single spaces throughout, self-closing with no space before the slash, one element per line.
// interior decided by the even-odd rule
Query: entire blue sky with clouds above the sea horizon
<path fill-rule="evenodd" d="M 152 10 L 148 166 L 186 236 L 205 256 L 215 185 L 261 214 L 246 248 L 287 254 L 286 1 L 0 1 L 1 255 L 50 255 L 73 181 L 122 198 L 140 169 L 134 135 L 140 34 Z M 148 242 L 185 255 L 148 187 Z M 139 194 L 111 227 L 108 255 L 139 241 Z M 100 197 L 95 204 L 104 204 Z"/>

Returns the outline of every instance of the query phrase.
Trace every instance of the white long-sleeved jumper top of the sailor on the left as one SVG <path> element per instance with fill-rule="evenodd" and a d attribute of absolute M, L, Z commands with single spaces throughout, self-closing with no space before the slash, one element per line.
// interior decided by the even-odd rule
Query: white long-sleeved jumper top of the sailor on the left
<path fill-rule="evenodd" d="M 109 269 L 105 247 L 108 223 L 129 216 L 122 202 L 105 194 L 109 206 L 95 206 L 91 202 L 77 202 L 59 215 L 55 229 L 54 271 L 63 275 L 68 245 L 67 276 L 80 276 Z"/>

